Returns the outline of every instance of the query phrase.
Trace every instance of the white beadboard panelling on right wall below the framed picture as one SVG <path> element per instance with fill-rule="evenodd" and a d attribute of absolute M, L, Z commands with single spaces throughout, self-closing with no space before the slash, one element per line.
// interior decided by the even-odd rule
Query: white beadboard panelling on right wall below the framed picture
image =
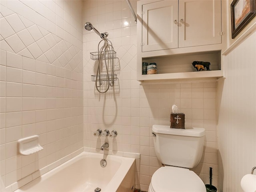
<path fill-rule="evenodd" d="M 219 191 L 241 192 L 240 181 L 256 166 L 256 32 L 225 57 L 218 83 Z"/>

